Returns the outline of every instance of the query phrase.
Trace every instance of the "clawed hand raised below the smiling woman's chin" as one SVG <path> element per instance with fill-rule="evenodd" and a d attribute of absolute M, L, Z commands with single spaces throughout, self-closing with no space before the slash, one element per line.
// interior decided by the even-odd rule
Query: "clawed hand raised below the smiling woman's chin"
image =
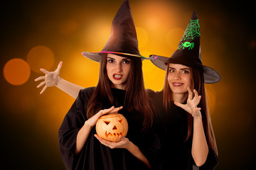
<path fill-rule="evenodd" d="M 174 101 L 174 104 L 178 107 L 183 108 L 185 111 L 190 113 L 193 118 L 201 117 L 201 108 L 198 108 L 198 104 L 201 100 L 201 96 L 198 96 L 198 92 L 194 89 L 193 92 L 188 87 L 188 99 L 186 104 L 179 103 Z M 194 97 L 193 97 L 194 94 Z"/>

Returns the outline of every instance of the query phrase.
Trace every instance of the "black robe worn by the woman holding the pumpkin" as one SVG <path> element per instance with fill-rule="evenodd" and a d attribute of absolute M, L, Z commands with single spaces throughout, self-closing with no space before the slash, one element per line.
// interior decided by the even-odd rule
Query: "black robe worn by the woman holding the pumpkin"
<path fill-rule="evenodd" d="M 127 149 L 110 149 L 102 145 L 94 135 L 95 127 L 90 131 L 90 135 L 85 142 L 82 151 L 75 155 L 75 143 L 78 131 L 87 120 L 87 102 L 92 96 L 95 87 L 90 87 L 80 91 L 73 106 L 65 115 L 58 132 L 58 142 L 60 154 L 67 169 L 93 169 L 93 170 L 121 170 L 121 169 L 147 169 L 146 166 L 134 157 Z M 114 106 L 124 106 L 124 96 L 126 91 L 112 89 Z M 105 103 L 105 108 L 110 108 L 110 103 Z M 102 109 L 105 109 L 102 108 Z M 142 133 L 142 116 L 139 113 L 128 113 L 127 108 L 119 111 L 129 125 L 127 138 L 137 145 L 151 166 L 154 166 L 157 151 L 159 150 L 158 137 L 150 132 Z"/>

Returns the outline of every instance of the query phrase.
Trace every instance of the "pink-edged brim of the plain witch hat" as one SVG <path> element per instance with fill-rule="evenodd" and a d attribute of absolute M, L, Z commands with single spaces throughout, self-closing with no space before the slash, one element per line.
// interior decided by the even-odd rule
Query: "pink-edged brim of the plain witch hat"
<path fill-rule="evenodd" d="M 101 54 L 107 53 L 107 54 L 114 54 L 114 55 L 127 55 L 127 57 L 140 57 L 142 60 L 149 60 L 149 58 L 144 57 L 142 55 L 133 55 L 129 53 L 124 53 L 124 52 L 107 52 L 107 51 L 101 51 L 101 52 L 82 52 L 82 55 L 87 57 L 88 59 L 95 61 L 95 62 L 100 62 L 101 59 Z"/>

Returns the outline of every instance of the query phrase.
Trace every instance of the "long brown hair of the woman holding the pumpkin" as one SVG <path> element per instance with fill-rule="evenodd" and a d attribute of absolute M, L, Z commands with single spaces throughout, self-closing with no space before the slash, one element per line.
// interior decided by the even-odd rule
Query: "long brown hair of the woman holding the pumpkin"
<path fill-rule="evenodd" d="M 147 130 L 153 124 L 153 111 L 150 107 L 149 96 L 144 86 L 142 59 L 139 57 L 129 57 L 129 59 L 131 60 L 131 68 L 125 89 L 124 106 L 130 113 L 142 114 L 144 118 L 142 130 Z M 87 103 L 87 118 L 91 118 L 103 109 L 105 102 L 110 103 L 112 106 L 114 105 L 114 98 L 111 92 L 112 82 L 107 77 L 106 67 L 107 54 L 102 54 L 99 81 Z"/>

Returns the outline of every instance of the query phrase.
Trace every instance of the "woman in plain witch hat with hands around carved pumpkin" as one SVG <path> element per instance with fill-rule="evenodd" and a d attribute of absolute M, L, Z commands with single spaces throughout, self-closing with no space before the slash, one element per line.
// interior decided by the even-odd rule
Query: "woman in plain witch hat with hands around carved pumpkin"
<path fill-rule="evenodd" d="M 100 62 L 100 76 L 96 87 L 79 91 L 60 125 L 58 142 L 66 168 L 150 169 L 157 152 L 150 145 L 154 135 L 148 135 L 153 112 L 144 88 L 144 57 L 139 54 L 129 1 L 125 0 L 117 11 L 102 51 L 82 55 Z M 58 70 L 60 67 L 61 63 Z M 127 136 L 120 135 L 119 142 L 110 142 L 95 135 L 100 116 L 117 111 L 127 119 Z M 145 142 L 148 137 L 150 140 Z"/>

